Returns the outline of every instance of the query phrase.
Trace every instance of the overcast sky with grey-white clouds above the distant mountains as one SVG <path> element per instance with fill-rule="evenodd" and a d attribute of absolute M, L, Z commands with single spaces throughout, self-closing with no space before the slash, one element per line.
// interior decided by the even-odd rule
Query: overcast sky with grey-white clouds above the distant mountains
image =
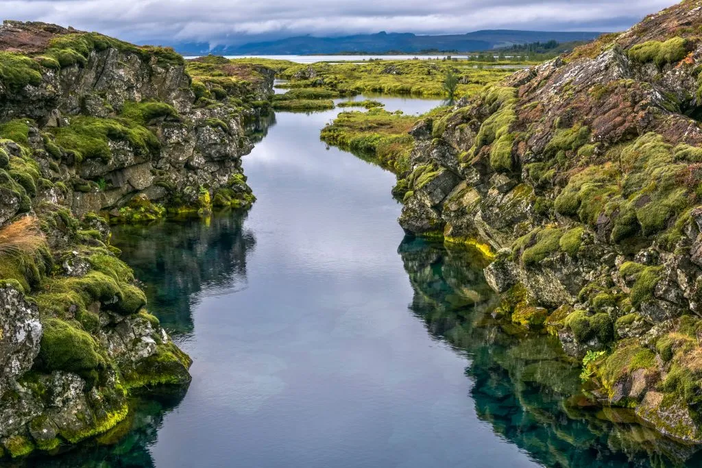
<path fill-rule="evenodd" d="M 0 0 L 0 18 L 128 41 L 242 42 L 312 34 L 615 31 L 675 0 Z"/>

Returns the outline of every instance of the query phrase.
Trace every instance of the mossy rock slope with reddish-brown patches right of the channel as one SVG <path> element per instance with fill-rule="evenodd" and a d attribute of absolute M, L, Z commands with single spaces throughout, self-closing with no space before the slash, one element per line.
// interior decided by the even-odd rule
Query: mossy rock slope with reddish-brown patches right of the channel
<path fill-rule="evenodd" d="M 702 1 L 517 72 L 410 131 L 409 234 L 490 246 L 496 314 L 584 388 L 702 443 Z"/>

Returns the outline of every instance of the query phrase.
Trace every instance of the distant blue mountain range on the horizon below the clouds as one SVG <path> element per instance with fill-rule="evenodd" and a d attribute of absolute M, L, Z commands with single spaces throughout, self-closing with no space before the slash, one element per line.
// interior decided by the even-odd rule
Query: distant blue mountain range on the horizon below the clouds
<path fill-rule="evenodd" d="M 600 32 L 512 31 L 494 29 L 418 36 L 411 33 L 356 34 L 343 37 L 297 36 L 275 41 L 252 42 L 240 45 L 220 45 L 210 48 L 206 43 L 174 44 L 183 55 L 309 55 L 337 53 L 438 53 L 477 52 L 511 47 L 515 44 L 557 41 L 591 41 Z"/>

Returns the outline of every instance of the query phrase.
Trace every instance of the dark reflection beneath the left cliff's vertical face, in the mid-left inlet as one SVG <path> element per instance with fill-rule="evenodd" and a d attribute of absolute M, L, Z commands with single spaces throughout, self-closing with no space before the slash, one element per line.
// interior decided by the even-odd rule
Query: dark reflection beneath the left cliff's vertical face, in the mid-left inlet
<path fill-rule="evenodd" d="M 256 245 L 243 227 L 245 213 L 116 227 L 114 243 L 146 285 L 149 310 L 175 335 L 192 331 L 191 305 L 203 288 L 246 284 L 246 255 Z"/>

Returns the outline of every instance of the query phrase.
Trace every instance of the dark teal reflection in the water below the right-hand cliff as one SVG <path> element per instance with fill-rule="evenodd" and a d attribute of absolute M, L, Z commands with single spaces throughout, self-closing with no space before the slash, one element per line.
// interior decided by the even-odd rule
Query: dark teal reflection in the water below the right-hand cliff
<path fill-rule="evenodd" d="M 525 336 L 489 312 L 479 253 L 420 239 L 399 246 L 414 289 L 412 312 L 439 339 L 468 352 L 477 415 L 548 467 L 700 466 L 697 448 L 664 439 L 633 413 L 595 408 L 581 394 L 577 363 L 557 339 Z"/>

